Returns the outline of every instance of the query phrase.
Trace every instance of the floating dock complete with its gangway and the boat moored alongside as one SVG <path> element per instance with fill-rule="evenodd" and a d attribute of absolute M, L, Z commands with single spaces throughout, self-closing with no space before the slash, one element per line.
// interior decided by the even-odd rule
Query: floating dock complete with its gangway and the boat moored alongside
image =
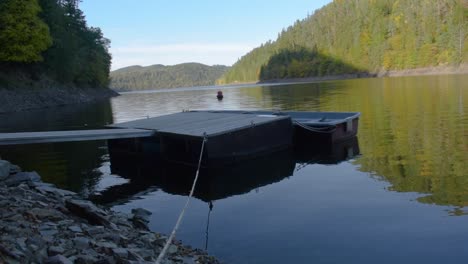
<path fill-rule="evenodd" d="M 108 140 L 109 152 L 151 153 L 223 165 L 294 145 L 317 148 L 355 137 L 359 113 L 190 111 L 118 123 L 105 129 L 0 133 L 0 145 Z"/>

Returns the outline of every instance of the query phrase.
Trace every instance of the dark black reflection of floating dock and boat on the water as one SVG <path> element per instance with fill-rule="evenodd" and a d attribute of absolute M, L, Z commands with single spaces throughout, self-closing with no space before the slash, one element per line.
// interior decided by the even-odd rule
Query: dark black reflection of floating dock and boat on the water
<path fill-rule="evenodd" d="M 338 164 L 359 155 L 357 138 L 320 148 L 287 149 L 228 166 L 201 168 L 194 197 L 205 202 L 242 195 L 259 187 L 291 177 L 310 164 Z M 142 192 L 162 190 L 188 195 L 197 167 L 165 161 L 154 153 L 115 151 L 110 153 L 111 173 L 128 182 L 96 193 L 92 199 L 103 204 L 125 204 Z M 137 194 L 135 196 L 135 194 Z"/>

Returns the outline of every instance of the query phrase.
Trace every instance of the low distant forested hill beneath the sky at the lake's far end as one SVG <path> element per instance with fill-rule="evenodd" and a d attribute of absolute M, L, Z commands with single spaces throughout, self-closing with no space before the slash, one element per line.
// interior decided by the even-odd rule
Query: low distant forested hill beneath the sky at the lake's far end
<path fill-rule="evenodd" d="M 111 72 L 111 88 L 130 91 L 214 85 L 227 69 L 227 66 L 200 63 L 130 66 Z"/>

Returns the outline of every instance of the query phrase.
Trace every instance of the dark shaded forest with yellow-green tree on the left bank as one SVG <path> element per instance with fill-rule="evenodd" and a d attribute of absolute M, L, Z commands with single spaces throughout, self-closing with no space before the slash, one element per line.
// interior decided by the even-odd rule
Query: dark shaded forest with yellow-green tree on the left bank
<path fill-rule="evenodd" d="M 39 82 L 109 85 L 109 40 L 89 27 L 79 0 L 0 1 L 0 88 Z"/>

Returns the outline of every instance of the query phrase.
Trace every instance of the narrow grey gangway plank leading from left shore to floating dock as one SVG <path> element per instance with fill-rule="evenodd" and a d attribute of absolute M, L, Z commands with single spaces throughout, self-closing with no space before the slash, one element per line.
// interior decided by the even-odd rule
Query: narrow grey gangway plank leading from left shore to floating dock
<path fill-rule="evenodd" d="M 0 133 L 0 145 L 151 137 L 154 133 L 155 131 L 153 130 L 144 129 L 95 129 Z"/>

